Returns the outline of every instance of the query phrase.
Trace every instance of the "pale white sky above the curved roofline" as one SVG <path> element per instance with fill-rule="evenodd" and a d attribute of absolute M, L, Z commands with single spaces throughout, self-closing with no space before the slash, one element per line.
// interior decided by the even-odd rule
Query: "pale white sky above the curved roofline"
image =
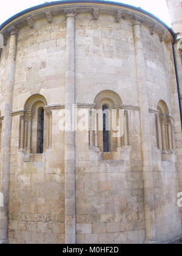
<path fill-rule="evenodd" d="M 1 0 L 2 1 L 2 0 Z M 141 7 L 164 21 L 170 27 L 169 12 L 167 10 L 166 0 L 112 0 L 113 2 L 123 2 L 124 4 Z M 5 0 L 1 2 L 0 24 L 4 23 L 8 18 L 22 10 L 28 9 L 35 5 L 44 4 L 44 2 L 52 2 L 45 0 Z"/>

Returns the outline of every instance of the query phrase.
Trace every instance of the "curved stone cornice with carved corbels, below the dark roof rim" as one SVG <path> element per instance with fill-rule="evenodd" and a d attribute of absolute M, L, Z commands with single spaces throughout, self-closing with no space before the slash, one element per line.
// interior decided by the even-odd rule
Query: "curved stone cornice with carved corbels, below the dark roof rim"
<path fill-rule="evenodd" d="M 22 26 L 27 26 L 27 23 L 30 27 L 34 27 L 34 24 L 37 20 L 40 20 L 47 17 L 48 22 L 53 21 L 53 16 L 57 15 L 66 15 L 67 16 L 76 16 L 75 13 L 91 13 L 94 20 L 99 19 L 99 15 L 113 15 L 115 16 L 116 22 L 120 22 L 121 18 L 133 20 L 134 24 L 136 22 L 142 22 L 144 25 L 149 27 L 150 34 L 153 35 L 157 33 L 161 40 L 164 41 L 173 41 L 174 38 L 170 31 L 165 27 L 160 21 L 155 20 L 151 16 L 147 16 L 145 13 L 140 12 L 139 10 L 129 9 L 127 7 L 115 6 L 115 5 L 106 5 L 106 4 L 89 4 L 89 3 L 72 3 L 72 8 L 70 9 L 70 4 L 60 4 L 52 5 L 49 7 L 44 7 L 42 9 L 34 10 L 31 13 L 26 13 L 22 16 L 19 16 L 12 22 L 8 23 L 0 33 L 3 35 L 8 35 L 8 30 L 10 27 L 15 26 L 16 29 L 20 29 Z"/>

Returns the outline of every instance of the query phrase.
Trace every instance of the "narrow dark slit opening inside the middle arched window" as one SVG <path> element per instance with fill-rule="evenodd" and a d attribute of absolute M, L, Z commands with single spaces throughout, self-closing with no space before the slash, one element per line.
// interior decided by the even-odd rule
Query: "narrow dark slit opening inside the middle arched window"
<path fill-rule="evenodd" d="M 109 118 L 107 115 L 107 105 L 103 105 L 103 151 L 109 152 Z"/>

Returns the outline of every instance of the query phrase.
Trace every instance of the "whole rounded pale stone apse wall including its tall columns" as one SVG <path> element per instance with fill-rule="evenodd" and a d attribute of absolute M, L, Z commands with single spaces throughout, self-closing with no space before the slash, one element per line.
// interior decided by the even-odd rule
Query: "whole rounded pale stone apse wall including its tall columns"
<path fill-rule="evenodd" d="M 19 20 L 1 30 L 1 242 L 181 236 L 181 123 L 169 30 L 140 10 L 103 2 L 42 7 Z M 127 119 L 124 139 L 109 153 L 100 133 L 59 130 L 60 110 L 97 108 L 98 95 L 120 99 L 115 107 Z M 172 144 L 166 152 L 157 134 L 160 101 L 172 129 L 171 138 L 164 132 Z M 36 104 L 49 115 L 43 154 L 34 152 L 35 121 L 27 116 Z"/>

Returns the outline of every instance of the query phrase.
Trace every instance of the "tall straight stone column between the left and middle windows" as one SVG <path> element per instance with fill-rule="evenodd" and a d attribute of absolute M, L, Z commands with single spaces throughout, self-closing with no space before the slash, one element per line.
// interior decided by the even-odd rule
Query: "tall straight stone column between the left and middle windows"
<path fill-rule="evenodd" d="M 75 104 L 75 12 L 66 10 L 66 74 L 65 74 L 65 108 L 72 113 Z M 74 115 L 74 113 L 72 113 Z M 72 118 L 66 116 L 70 122 L 70 130 L 65 131 L 64 148 L 64 179 L 65 179 L 65 243 L 76 243 L 75 216 L 75 132 L 72 130 Z M 71 120 L 70 120 L 71 119 Z M 69 124 L 67 125 L 69 127 Z"/>

